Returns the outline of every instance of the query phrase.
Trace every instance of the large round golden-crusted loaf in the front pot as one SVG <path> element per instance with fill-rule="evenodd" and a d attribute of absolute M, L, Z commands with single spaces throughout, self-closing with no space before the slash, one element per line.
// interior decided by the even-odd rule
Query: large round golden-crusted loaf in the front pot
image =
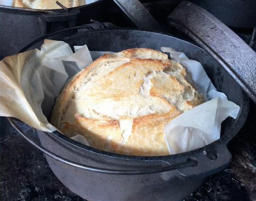
<path fill-rule="evenodd" d="M 50 122 L 100 150 L 168 155 L 164 126 L 203 102 L 185 74 L 180 63 L 156 50 L 106 53 L 66 84 Z"/>

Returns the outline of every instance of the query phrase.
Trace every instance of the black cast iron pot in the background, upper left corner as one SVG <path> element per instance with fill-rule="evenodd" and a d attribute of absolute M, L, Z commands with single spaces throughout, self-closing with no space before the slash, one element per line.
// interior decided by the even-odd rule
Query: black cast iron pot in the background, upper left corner
<path fill-rule="evenodd" d="M 90 19 L 101 21 L 108 0 L 69 9 L 38 10 L 0 5 L 0 59 L 16 54 L 38 37 L 64 28 L 87 24 Z M 66 32 L 63 36 L 70 35 Z"/>

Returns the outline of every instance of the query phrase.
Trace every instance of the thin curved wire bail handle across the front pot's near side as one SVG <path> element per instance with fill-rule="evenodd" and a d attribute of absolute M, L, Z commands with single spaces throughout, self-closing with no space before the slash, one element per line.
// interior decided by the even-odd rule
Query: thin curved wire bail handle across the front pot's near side
<path fill-rule="evenodd" d="M 176 170 L 180 169 L 183 167 L 190 167 L 190 166 L 197 166 L 197 161 L 195 160 L 188 160 L 183 163 L 175 164 L 175 165 L 170 165 L 170 166 L 165 166 L 165 167 L 157 167 L 157 168 L 152 168 L 152 169 L 143 169 L 143 170 L 116 170 L 116 169 L 105 169 L 105 168 L 100 168 L 100 167 L 93 167 L 93 166 L 86 166 L 83 164 L 79 164 L 73 161 L 70 161 L 68 159 L 65 159 L 57 154 L 54 154 L 50 152 L 48 149 L 45 149 L 42 147 L 40 144 L 32 140 L 26 133 L 24 133 L 19 126 L 14 122 L 14 120 L 10 117 L 7 118 L 11 125 L 13 126 L 14 129 L 16 129 L 19 134 L 24 137 L 30 144 L 35 146 L 38 150 L 43 152 L 44 154 L 48 155 L 49 157 L 68 164 L 70 166 L 74 166 L 80 169 L 85 169 L 93 172 L 98 172 L 98 173 L 105 173 L 105 174 L 115 174 L 115 175 L 144 175 L 144 174 L 153 174 L 153 173 L 159 173 L 159 172 L 166 172 L 170 170 Z"/>

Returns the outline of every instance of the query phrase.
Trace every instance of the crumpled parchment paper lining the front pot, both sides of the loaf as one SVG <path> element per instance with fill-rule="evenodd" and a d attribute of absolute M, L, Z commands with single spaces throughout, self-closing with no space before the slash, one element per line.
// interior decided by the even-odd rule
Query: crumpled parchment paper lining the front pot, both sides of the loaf
<path fill-rule="evenodd" d="M 63 41 L 45 40 L 41 50 L 30 50 L 0 61 L 0 116 L 19 118 L 38 130 L 56 130 L 47 120 L 54 100 L 64 84 L 104 52 L 75 46 L 75 53 Z M 181 62 L 206 103 L 183 113 L 169 122 L 164 137 L 170 154 L 187 152 L 219 139 L 220 124 L 236 118 L 240 107 L 219 93 L 202 65 L 183 53 L 162 47 L 171 59 Z M 42 109 L 44 108 L 44 113 Z M 77 135 L 72 138 L 89 145 Z"/>

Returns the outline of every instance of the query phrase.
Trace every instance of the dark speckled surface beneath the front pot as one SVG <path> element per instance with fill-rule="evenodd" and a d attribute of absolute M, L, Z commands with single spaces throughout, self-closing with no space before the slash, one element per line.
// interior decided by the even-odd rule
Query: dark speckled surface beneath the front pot
<path fill-rule="evenodd" d="M 0 125 L 1 201 L 85 201 L 61 184 L 44 155 L 6 118 Z M 26 128 L 38 140 L 34 130 Z M 256 104 L 251 103 L 244 127 L 229 143 L 229 150 L 233 158 L 228 168 L 208 177 L 183 201 L 256 201 Z"/>

